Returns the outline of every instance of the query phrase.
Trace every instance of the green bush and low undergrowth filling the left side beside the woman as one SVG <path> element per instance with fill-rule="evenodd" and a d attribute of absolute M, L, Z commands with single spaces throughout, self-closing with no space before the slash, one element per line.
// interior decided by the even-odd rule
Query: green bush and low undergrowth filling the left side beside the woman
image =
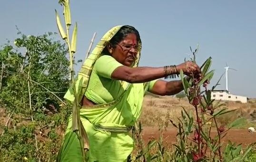
<path fill-rule="evenodd" d="M 50 32 L 18 34 L 15 46 L 0 49 L 0 105 L 13 112 L 0 124 L 0 161 L 54 161 L 71 114 L 61 101 L 69 87 L 67 48 Z"/>

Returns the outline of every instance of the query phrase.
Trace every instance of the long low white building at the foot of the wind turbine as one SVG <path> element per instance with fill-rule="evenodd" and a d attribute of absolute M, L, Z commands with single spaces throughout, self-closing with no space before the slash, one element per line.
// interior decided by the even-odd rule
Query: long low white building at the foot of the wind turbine
<path fill-rule="evenodd" d="M 247 103 L 247 97 L 241 95 L 232 95 L 227 90 L 213 90 L 211 93 L 211 98 L 223 101 L 241 101 L 241 103 Z"/>

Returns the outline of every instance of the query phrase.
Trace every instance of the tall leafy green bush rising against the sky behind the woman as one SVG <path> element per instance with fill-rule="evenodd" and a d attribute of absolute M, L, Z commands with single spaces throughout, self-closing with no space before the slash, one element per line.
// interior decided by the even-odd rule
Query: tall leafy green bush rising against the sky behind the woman
<path fill-rule="evenodd" d="M 69 86 L 67 49 L 54 41 L 52 33 L 42 36 L 25 36 L 15 39 L 16 47 L 5 45 L 0 50 L 3 75 L 0 104 L 8 105 L 9 112 L 30 116 L 39 111 L 56 113 L 59 97 Z M 29 107 L 29 88 L 32 110 Z M 32 111 L 32 112 L 31 112 Z"/>

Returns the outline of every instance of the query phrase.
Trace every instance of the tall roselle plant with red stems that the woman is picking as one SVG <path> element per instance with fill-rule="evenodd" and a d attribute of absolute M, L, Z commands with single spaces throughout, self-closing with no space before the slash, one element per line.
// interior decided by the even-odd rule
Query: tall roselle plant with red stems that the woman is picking
<path fill-rule="evenodd" d="M 198 48 L 197 48 L 198 49 Z M 191 61 L 196 63 L 196 53 L 192 51 Z M 178 129 L 177 144 L 174 144 L 172 161 L 175 162 L 241 162 L 246 159 L 246 155 L 252 149 L 252 145 L 246 148 L 242 153 L 241 145 L 236 147 L 234 143 L 229 143 L 226 149 L 222 148 L 221 140 L 225 137 L 227 131 L 239 124 L 239 119 L 229 125 L 219 125 L 217 118 L 223 114 L 236 110 L 228 110 L 225 104 L 215 101 L 211 98 L 211 91 L 218 85 L 208 89 L 210 80 L 214 75 L 214 70 L 209 70 L 212 64 L 212 58 L 209 57 L 201 68 L 201 78 L 192 76 L 189 80 L 180 71 L 180 78 L 187 95 L 189 103 L 194 107 L 195 120 L 191 112 L 187 112 L 183 107 L 181 111 L 182 118 L 179 123 L 174 124 Z M 201 90 L 202 89 L 202 90 Z M 213 127 L 217 129 L 217 135 L 212 136 Z M 224 152 L 223 152 L 224 150 Z"/>

